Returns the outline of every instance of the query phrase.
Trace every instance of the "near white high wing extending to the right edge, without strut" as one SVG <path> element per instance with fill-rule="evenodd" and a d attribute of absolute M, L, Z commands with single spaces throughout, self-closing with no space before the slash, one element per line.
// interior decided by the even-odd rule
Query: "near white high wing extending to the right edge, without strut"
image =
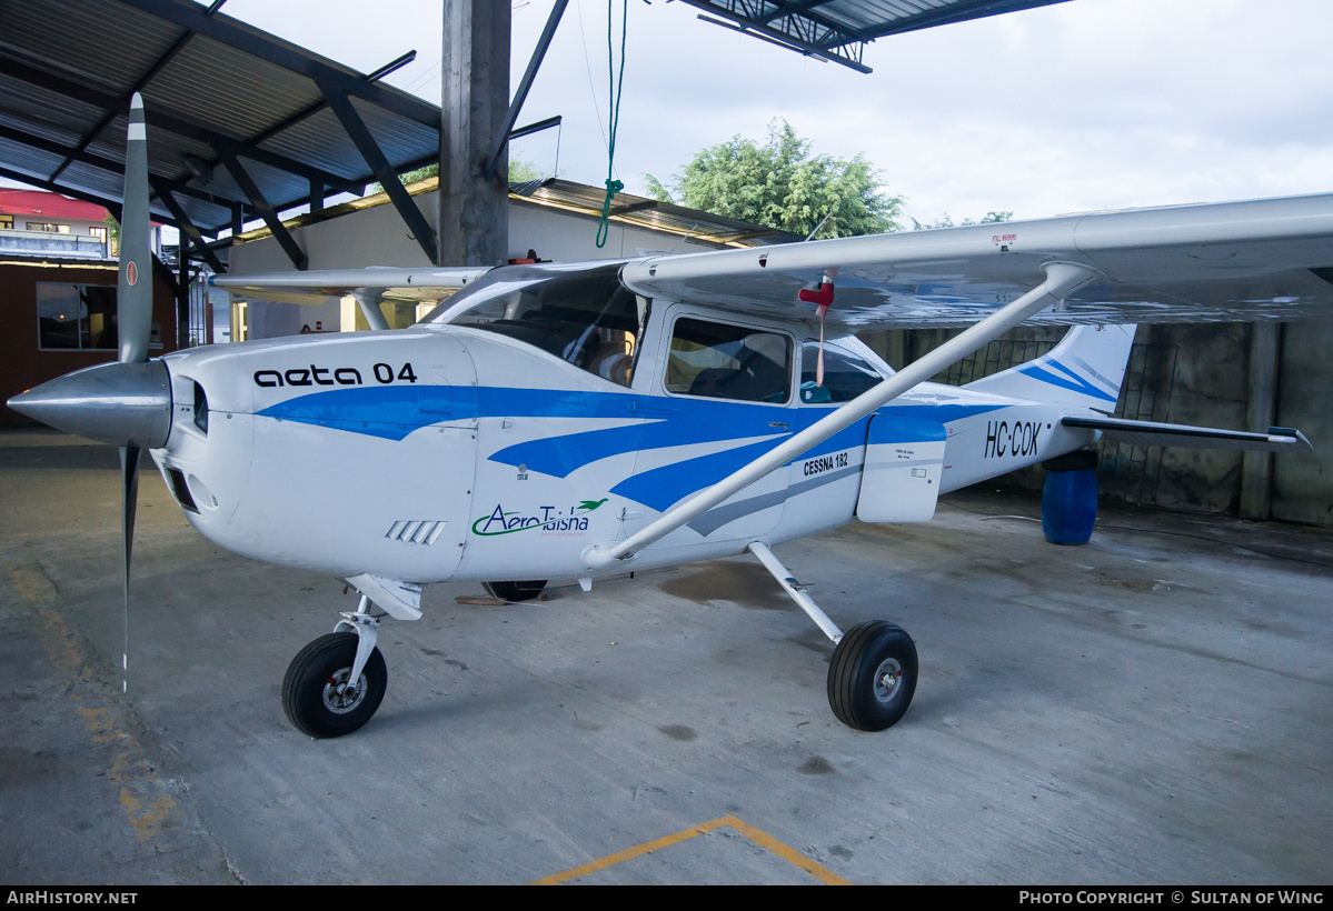
<path fill-rule="evenodd" d="M 1041 265 L 1100 280 L 1029 322 L 1236 322 L 1333 313 L 1333 194 L 1181 205 L 649 257 L 645 297 L 809 318 L 802 288 L 834 280 L 830 322 L 966 326 L 1029 292 Z"/>

